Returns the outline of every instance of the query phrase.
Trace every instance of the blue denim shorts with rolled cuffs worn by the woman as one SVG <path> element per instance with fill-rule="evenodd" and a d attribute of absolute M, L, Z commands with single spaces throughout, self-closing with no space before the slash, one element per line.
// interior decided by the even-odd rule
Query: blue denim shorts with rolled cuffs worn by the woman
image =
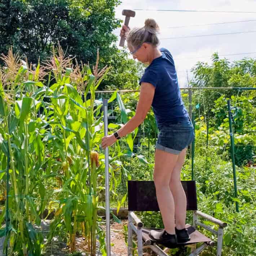
<path fill-rule="evenodd" d="M 194 129 L 191 120 L 159 127 L 156 149 L 178 155 L 187 148 L 194 139 Z"/>

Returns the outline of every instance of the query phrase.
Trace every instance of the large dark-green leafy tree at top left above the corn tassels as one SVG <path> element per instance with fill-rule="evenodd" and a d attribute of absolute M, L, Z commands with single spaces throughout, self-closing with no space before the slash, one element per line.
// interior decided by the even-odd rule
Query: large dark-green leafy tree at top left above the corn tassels
<path fill-rule="evenodd" d="M 0 5 L 1 53 L 10 46 L 37 63 L 50 56 L 53 45 L 67 49 L 78 61 L 94 63 L 113 54 L 112 30 L 120 26 L 114 8 L 119 0 L 16 0 Z"/>

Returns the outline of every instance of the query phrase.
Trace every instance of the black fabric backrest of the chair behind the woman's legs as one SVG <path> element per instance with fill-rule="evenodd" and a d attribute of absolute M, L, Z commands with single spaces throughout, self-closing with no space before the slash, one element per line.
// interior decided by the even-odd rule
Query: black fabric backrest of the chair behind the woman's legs
<path fill-rule="evenodd" d="M 187 211 L 197 210 L 195 181 L 181 181 L 187 198 Z M 154 181 L 128 181 L 128 211 L 159 211 Z"/>

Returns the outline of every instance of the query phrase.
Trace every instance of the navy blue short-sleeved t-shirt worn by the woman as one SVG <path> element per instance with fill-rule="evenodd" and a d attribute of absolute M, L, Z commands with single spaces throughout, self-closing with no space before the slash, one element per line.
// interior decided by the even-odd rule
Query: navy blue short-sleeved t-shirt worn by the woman
<path fill-rule="evenodd" d="M 185 121 L 188 117 L 181 99 L 172 55 L 164 48 L 161 48 L 160 52 L 162 56 L 150 63 L 140 80 L 140 84 L 145 82 L 155 87 L 152 107 L 159 128 Z"/>

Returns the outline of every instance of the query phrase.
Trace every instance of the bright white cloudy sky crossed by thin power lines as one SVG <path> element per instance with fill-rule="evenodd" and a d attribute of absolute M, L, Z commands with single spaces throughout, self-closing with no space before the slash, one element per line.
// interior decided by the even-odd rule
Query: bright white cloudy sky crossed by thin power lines
<path fill-rule="evenodd" d="M 124 20 L 125 17 L 122 16 L 123 9 L 143 9 L 135 10 L 136 16 L 131 18 L 129 23 L 129 27 L 131 28 L 143 27 L 146 18 L 154 18 L 158 23 L 160 27 L 159 48 L 167 48 L 172 53 L 181 88 L 187 86 L 187 74 L 189 79 L 193 78 L 193 74 L 190 70 L 195 66 L 197 61 L 204 61 L 210 64 L 211 56 L 214 52 L 218 52 L 221 58 L 228 58 L 230 62 L 244 57 L 256 58 L 256 53 L 231 56 L 226 55 L 256 52 L 256 0 L 123 0 L 122 4 L 116 8 L 116 18 Z M 154 11 L 148 11 L 145 9 L 153 9 Z M 208 10 L 255 13 L 167 12 L 155 10 Z M 237 23 L 207 25 L 223 22 Z M 168 37 L 198 36 L 247 31 L 255 32 L 164 39 Z M 114 31 L 115 34 L 119 34 L 119 32 L 120 28 Z"/>

